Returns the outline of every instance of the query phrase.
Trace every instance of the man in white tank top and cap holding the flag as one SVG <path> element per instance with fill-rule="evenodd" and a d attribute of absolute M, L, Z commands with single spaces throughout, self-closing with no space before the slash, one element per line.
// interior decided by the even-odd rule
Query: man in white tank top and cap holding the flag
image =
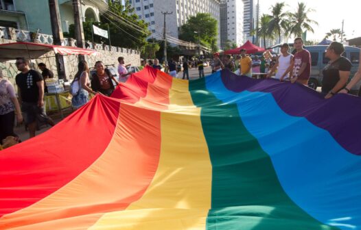
<path fill-rule="evenodd" d="M 288 53 L 289 49 L 290 46 L 287 43 L 282 44 L 281 55 L 277 57 L 277 62 L 270 70 L 270 73 L 268 73 L 267 78 L 272 77 L 272 74 L 275 73 L 277 67 L 278 68 L 275 79 L 283 81 L 284 79 L 290 78 L 291 69 L 289 67 L 292 65 L 293 55 L 291 53 Z"/>

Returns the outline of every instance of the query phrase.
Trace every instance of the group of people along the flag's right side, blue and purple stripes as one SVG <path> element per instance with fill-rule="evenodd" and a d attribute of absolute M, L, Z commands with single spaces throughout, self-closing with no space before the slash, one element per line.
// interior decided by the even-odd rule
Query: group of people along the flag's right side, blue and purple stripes
<path fill-rule="evenodd" d="M 347 57 L 342 56 L 345 47 L 340 42 L 331 42 L 325 51 L 325 57 L 329 59 L 329 63 L 323 69 L 323 80 L 321 94 L 325 99 L 329 99 L 337 93 L 348 93 L 361 79 L 361 67 L 351 79 L 349 84 L 347 80 L 351 74 L 351 62 Z M 360 53 L 361 58 L 361 53 Z M 252 60 L 246 55 L 246 50 L 240 51 L 240 59 L 234 60 L 231 55 L 225 55 L 224 64 L 220 60 L 220 54 L 213 54 L 213 73 L 222 69 L 235 71 L 239 75 L 248 77 L 253 76 L 253 69 L 257 68 L 257 74 L 264 74 L 266 78 L 275 78 L 279 81 L 290 81 L 292 84 L 297 82 L 307 86 L 311 75 L 311 55 L 307 49 L 304 49 L 302 38 L 294 39 L 294 54 L 290 53 L 289 44 L 285 43 L 281 46 L 281 54 L 272 57 L 267 63 L 265 57 L 259 58 L 255 56 Z M 237 66 L 238 64 L 238 66 Z"/>

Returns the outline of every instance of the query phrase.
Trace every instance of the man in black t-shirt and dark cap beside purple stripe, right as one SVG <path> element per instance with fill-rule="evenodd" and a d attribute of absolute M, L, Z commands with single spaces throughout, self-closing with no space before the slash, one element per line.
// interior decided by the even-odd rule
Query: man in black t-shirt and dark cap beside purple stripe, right
<path fill-rule="evenodd" d="M 326 49 L 325 57 L 329 58 L 329 63 L 323 69 L 322 79 L 322 93 L 325 94 L 325 99 L 342 90 L 349 79 L 352 64 L 346 57 L 341 56 L 344 51 L 345 48 L 340 42 L 332 42 Z"/>

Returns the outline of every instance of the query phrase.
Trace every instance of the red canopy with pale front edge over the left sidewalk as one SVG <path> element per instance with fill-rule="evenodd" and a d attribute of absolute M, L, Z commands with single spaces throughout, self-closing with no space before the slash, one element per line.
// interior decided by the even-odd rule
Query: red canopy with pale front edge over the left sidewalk
<path fill-rule="evenodd" d="M 65 47 L 54 44 L 40 44 L 33 42 L 12 42 L 0 44 L 0 62 L 14 60 L 16 57 L 36 59 L 49 51 L 62 55 L 96 55 L 97 51 L 78 47 Z"/>

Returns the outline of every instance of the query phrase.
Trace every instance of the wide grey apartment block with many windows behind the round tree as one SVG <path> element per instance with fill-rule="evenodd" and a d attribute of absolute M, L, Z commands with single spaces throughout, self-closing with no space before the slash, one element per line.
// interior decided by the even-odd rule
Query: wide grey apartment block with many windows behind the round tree
<path fill-rule="evenodd" d="M 218 44 L 220 44 L 220 0 L 128 0 L 135 12 L 147 21 L 153 34 L 163 34 L 164 16 L 162 12 L 173 12 L 167 15 L 167 34 L 178 38 L 180 27 L 187 22 L 189 16 L 198 13 L 209 13 L 218 21 Z M 199 25 L 200 27 L 202 25 Z"/>

